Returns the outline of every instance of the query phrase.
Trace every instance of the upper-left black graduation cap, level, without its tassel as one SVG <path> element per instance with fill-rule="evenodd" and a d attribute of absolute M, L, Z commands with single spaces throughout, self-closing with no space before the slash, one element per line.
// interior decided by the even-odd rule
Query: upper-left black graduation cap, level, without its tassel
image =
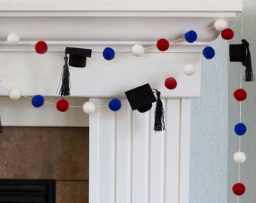
<path fill-rule="evenodd" d="M 91 57 L 92 50 L 74 47 L 66 47 L 66 54 L 69 54 L 69 65 L 84 68 L 86 66 L 87 57 Z"/>

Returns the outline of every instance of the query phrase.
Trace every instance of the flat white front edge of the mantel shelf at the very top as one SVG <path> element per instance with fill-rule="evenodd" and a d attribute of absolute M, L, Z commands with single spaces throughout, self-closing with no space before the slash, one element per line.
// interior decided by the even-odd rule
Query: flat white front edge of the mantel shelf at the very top
<path fill-rule="evenodd" d="M 242 0 L 81 1 L 2 0 L 0 11 L 242 11 Z"/>

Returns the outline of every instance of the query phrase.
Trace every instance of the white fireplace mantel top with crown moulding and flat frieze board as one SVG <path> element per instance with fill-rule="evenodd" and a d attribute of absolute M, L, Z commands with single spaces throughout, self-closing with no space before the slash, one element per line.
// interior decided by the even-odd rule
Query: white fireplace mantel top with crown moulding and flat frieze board
<path fill-rule="evenodd" d="M 127 89 L 151 83 L 164 97 L 197 97 L 200 95 L 200 53 L 220 33 L 213 28 L 215 20 L 228 21 L 240 11 L 242 0 L 2 0 L 0 59 L 6 67 L 2 72 L 2 85 L 18 86 L 25 95 L 34 95 L 38 89 L 31 88 L 31 78 L 36 78 L 41 94 L 56 96 L 62 57 L 65 47 L 69 46 L 93 50 L 86 68 L 71 69 L 72 96 L 123 96 Z M 197 32 L 198 38 L 194 43 L 187 43 L 184 33 L 191 29 Z M 20 36 L 17 45 L 7 43 L 10 33 Z M 169 50 L 164 53 L 156 47 L 160 38 L 170 42 Z M 35 53 L 37 41 L 47 42 L 48 51 L 44 55 Z M 134 44 L 145 47 L 144 56 L 132 56 Z M 110 62 L 102 57 L 105 47 L 112 47 L 116 52 Z M 28 61 L 34 68 L 29 67 Z M 182 74 L 186 63 L 198 69 L 193 77 Z M 24 75 L 9 77 L 20 74 L 17 67 L 23 69 Z M 133 80 L 127 77 L 130 73 Z M 40 77 L 42 74 L 46 74 L 47 81 Z M 178 77 L 179 85 L 174 91 L 163 86 L 162 81 L 169 76 Z M 7 92 L 0 89 L 0 94 L 7 95 Z"/>

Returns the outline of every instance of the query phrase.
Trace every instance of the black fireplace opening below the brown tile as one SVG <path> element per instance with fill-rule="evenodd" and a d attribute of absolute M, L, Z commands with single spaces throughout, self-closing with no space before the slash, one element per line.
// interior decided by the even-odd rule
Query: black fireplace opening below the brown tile
<path fill-rule="evenodd" d="M 55 203 L 55 180 L 0 179 L 0 202 Z"/>

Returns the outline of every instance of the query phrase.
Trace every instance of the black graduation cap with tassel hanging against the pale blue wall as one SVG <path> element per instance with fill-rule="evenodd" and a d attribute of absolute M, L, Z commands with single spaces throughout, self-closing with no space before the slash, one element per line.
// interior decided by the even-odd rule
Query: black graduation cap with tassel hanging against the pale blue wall
<path fill-rule="evenodd" d="M 242 44 L 230 44 L 230 62 L 242 62 L 245 66 L 244 80 L 249 82 L 254 79 L 249 44 L 245 39 L 242 39 Z"/>

